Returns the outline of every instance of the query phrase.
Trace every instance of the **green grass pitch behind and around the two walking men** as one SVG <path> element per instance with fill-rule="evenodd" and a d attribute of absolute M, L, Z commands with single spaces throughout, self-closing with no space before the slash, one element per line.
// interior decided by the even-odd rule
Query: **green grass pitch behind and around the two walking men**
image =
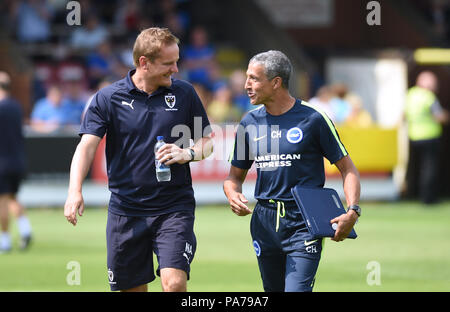
<path fill-rule="evenodd" d="M 326 240 L 314 291 L 450 291 L 450 202 L 362 203 L 356 240 Z M 106 209 L 88 208 L 73 227 L 61 209 L 29 209 L 34 242 L 0 255 L 0 291 L 109 291 Z M 198 207 L 189 291 L 262 291 L 250 216 Z M 75 262 L 73 262 L 75 261 Z M 72 279 L 79 264 L 79 283 Z M 69 282 L 68 282 L 69 280 Z M 73 284 L 73 285 L 71 285 Z M 159 278 L 149 284 L 160 291 Z"/>

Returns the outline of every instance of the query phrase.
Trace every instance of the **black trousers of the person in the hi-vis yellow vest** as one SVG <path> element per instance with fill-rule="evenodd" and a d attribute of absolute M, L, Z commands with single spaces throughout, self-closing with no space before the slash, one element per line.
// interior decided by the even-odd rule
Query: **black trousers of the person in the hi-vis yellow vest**
<path fill-rule="evenodd" d="M 425 204 L 438 200 L 440 140 L 409 141 L 406 173 L 407 197 L 419 198 Z"/>

